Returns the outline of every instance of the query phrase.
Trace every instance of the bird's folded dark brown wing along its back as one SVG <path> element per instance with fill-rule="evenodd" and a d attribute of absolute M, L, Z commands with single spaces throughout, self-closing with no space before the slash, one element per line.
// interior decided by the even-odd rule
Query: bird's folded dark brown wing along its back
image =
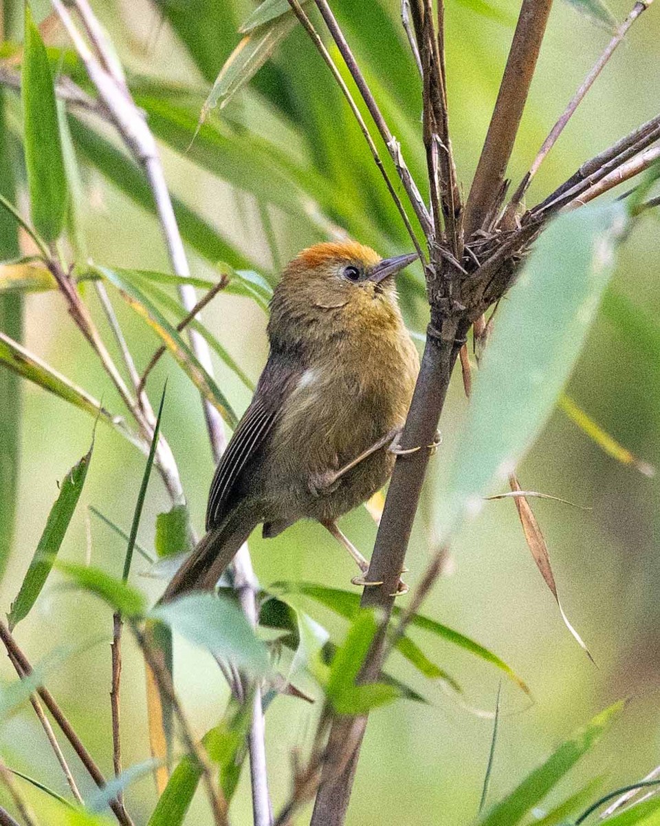
<path fill-rule="evenodd" d="M 233 494 L 243 470 L 258 457 L 301 373 L 290 359 L 271 354 L 254 397 L 215 468 L 206 508 L 206 530 L 219 525 L 235 504 Z"/>

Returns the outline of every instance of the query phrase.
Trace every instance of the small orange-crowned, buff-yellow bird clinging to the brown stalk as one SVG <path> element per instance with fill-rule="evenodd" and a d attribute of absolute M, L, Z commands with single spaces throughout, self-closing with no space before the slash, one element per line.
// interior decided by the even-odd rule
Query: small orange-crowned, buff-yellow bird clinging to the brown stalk
<path fill-rule="evenodd" d="M 270 304 L 270 353 L 215 470 L 206 534 L 163 601 L 214 590 L 260 524 L 270 538 L 297 520 L 316 520 L 366 572 L 337 519 L 379 491 L 396 455 L 409 452 L 398 448 L 398 434 L 419 358 L 394 276 L 415 259 L 382 259 L 342 241 L 314 244 L 285 266 Z"/>

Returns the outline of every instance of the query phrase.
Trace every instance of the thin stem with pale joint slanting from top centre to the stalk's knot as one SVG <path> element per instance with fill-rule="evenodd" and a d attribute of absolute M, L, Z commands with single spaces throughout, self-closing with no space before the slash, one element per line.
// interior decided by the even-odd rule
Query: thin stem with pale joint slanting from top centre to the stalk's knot
<path fill-rule="evenodd" d="M 410 170 L 403 160 L 401 146 L 394 135 L 392 135 L 392 132 L 389 131 L 389 126 L 385 122 L 378 104 L 375 102 L 375 97 L 371 93 L 371 90 L 360 71 L 360 67 L 356 63 L 356 59 L 351 52 L 351 47 L 348 45 L 342 29 L 339 27 L 335 16 L 332 14 L 332 9 L 328 6 L 327 0 L 315 0 L 315 2 L 318 7 L 318 11 L 321 12 L 323 20 L 326 22 L 326 26 L 328 26 L 328 31 L 330 31 L 330 34 L 332 35 L 332 40 L 334 40 L 337 44 L 337 48 L 339 49 L 344 62 L 347 64 L 348 71 L 351 73 L 351 77 L 355 81 L 357 88 L 360 90 L 362 100 L 364 100 L 370 116 L 373 118 L 374 123 L 378 128 L 380 136 L 383 138 L 389 154 L 392 156 L 394 166 L 398 172 L 398 177 L 401 179 L 403 188 L 408 194 L 408 199 L 410 200 L 413 210 L 417 215 L 417 220 L 422 226 L 422 230 L 424 230 L 424 235 L 428 238 L 431 236 L 433 230 L 431 216 L 429 216 L 427 207 L 424 206 L 424 201 L 420 195 L 419 189 L 417 188 L 417 184 L 414 182 L 413 176 L 410 174 Z"/>

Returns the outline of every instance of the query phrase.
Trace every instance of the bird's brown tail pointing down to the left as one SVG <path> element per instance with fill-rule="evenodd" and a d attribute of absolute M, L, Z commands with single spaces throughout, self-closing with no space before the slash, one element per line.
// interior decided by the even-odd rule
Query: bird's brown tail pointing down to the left
<path fill-rule="evenodd" d="M 213 591 L 224 569 L 256 525 L 256 521 L 234 513 L 217 528 L 208 531 L 172 577 L 161 601 L 172 601 L 188 591 Z"/>

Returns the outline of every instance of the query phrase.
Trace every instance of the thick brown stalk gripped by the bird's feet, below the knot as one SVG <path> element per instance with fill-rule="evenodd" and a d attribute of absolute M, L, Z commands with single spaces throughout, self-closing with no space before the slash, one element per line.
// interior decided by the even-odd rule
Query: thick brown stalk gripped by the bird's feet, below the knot
<path fill-rule="evenodd" d="M 361 599 L 363 607 L 380 609 L 382 624 L 366 657 L 361 682 L 375 681 L 380 674 L 385 629 L 394 605 L 429 458 L 429 450 L 423 446 L 434 441 L 451 373 L 467 328 L 466 321 L 447 318 L 442 321 L 440 330 L 430 326 L 427 333 L 422 366 L 401 438 L 403 449 L 420 445 L 422 449 L 397 458 L 389 484 L 366 574 L 370 582 L 383 584 L 365 588 Z M 342 716 L 333 720 L 311 826 L 341 826 L 344 823 L 365 726 L 366 717 Z"/>

